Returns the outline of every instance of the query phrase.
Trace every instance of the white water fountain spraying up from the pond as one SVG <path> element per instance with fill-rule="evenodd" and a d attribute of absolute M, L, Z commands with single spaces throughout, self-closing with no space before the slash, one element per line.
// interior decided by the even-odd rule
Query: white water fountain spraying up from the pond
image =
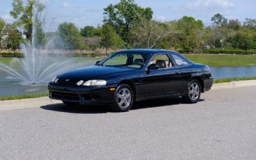
<path fill-rule="evenodd" d="M 10 65 L 0 63 L 0 70 L 8 72 L 10 75 L 8 78 L 19 79 L 19 84 L 23 85 L 44 85 L 51 81 L 52 77 L 62 72 L 93 64 L 93 62 L 77 63 L 73 58 L 63 60 L 60 56 L 52 56 L 52 44 L 57 42 L 54 38 L 48 40 L 46 45 L 38 46 L 35 26 L 38 25 L 40 20 L 36 17 L 38 13 L 36 13 L 35 9 L 33 10 L 33 15 L 32 42 L 20 46 L 24 58 L 13 58 Z M 58 42 L 61 43 L 61 40 Z M 19 69 L 17 69 L 17 66 Z"/>

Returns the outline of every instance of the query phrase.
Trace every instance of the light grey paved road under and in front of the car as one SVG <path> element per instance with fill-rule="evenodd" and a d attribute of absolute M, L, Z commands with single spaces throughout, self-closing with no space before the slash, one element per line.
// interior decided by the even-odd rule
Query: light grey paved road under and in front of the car
<path fill-rule="evenodd" d="M 256 86 L 197 104 L 158 99 L 127 113 L 100 106 L 0 111 L 0 159 L 256 159 Z"/>

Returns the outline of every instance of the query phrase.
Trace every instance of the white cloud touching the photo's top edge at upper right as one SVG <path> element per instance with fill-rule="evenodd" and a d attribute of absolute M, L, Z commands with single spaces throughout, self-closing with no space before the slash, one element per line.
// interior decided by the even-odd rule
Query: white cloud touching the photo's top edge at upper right
<path fill-rule="evenodd" d="M 230 0 L 197 0 L 193 3 L 188 3 L 186 6 L 193 8 L 229 8 L 234 6 L 234 3 L 230 2 Z"/>

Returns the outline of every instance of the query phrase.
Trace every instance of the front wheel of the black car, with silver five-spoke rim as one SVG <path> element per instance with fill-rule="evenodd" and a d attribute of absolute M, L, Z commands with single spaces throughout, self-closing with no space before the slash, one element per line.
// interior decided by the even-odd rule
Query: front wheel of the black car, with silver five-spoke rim
<path fill-rule="evenodd" d="M 133 100 L 132 88 L 127 84 L 120 84 L 116 89 L 114 103 L 111 108 L 118 112 L 129 111 L 132 107 Z"/>

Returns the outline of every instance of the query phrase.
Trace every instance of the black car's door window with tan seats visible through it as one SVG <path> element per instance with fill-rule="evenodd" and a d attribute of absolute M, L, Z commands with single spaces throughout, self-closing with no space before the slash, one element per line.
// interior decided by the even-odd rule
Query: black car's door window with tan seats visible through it
<path fill-rule="evenodd" d="M 149 65 L 156 64 L 159 68 L 169 68 L 173 67 L 172 62 L 170 61 L 167 54 L 157 54 L 154 58 L 150 61 Z"/>

